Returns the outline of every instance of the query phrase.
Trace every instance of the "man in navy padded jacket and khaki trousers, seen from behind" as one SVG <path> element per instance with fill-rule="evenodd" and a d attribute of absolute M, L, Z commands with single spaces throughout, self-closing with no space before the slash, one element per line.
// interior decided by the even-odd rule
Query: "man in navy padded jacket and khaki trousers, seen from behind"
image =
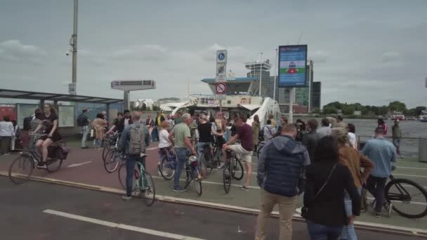
<path fill-rule="evenodd" d="M 302 192 L 305 168 L 310 164 L 306 147 L 295 140 L 296 128 L 295 124 L 283 126 L 280 136 L 265 143 L 258 159 L 261 206 L 255 239 L 265 239 L 268 218 L 276 204 L 280 211 L 280 239 L 292 238 L 291 220 Z"/>

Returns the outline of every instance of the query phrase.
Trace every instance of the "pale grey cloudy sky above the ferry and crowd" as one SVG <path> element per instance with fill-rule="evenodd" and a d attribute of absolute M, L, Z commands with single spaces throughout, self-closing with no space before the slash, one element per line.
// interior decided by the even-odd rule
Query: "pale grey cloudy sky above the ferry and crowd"
<path fill-rule="evenodd" d="M 427 1 L 79 1 L 77 94 L 121 98 L 117 79 L 154 79 L 137 98 L 209 94 L 215 53 L 228 69 L 275 62 L 275 48 L 307 44 L 322 105 L 427 105 Z M 0 1 L 0 88 L 67 93 L 73 1 Z M 298 42 L 298 39 L 300 41 Z M 273 67 L 274 68 L 274 67 Z"/>

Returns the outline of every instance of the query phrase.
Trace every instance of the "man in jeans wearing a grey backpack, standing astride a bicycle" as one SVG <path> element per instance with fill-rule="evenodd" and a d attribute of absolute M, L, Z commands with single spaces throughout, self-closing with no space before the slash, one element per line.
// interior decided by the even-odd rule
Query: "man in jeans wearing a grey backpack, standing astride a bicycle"
<path fill-rule="evenodd" d="M 119 140 L 119 150 L 126 154 L 126 195 L 122 196 L 124 201 L 132 199 L 135 162 L 142 161 L 145 167 L 145 149 L 150 145 L 150 133 L 146 126 L 140 124 L 140 116 L 139 112 L 133 112 L 133 124 L 124 128 Z"/>

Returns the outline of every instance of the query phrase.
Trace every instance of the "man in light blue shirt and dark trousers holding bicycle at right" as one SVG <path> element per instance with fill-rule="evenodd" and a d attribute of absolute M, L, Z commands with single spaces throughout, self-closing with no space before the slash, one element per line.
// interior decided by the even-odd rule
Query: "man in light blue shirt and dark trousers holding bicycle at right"
<path fill-rule="evenodd" d="M 384 129 L 375 129 L 375 138 L 366 142 L 362 154 L 374 162 L 375 167 L 367 180 L 366 188 L 375 196 L 375 218 L 381 216 L 383 206 L 390 213 L 392 204 L 384 204 L 384 188 L 391 175 L 392 162 L 396 161 L 396 148 L 384 138 Z"/>

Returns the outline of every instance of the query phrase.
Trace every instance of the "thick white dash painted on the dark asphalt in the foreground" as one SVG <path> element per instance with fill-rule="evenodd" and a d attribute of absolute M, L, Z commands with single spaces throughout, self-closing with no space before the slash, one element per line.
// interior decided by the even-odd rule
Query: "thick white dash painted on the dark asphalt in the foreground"
<path fill-rule="evenodd" d="M 131 225 L 124 225 L 124 224 L 120 224 L 120 223 L 116 223 L 116 222 L 107 222 L 104 220 L 98 220 L 96 218 L 87 218 L 87 217 L 84 217 L 81 215 L 75 215 L 75 214 L 71 214 L 71 213 L 55 211 L 55 210 L 51 210 L 51 209 L 46 209 L 43 212 L 48 213 L 48 214 L 52 214 L 52 215 L 58 215 L 58 216 L 63 217 L 63 218 L 70 218 L 70 219 L 74 219 L 74 220 L 79 220 L 82 222 L 91 222 L 91 223 L 103 225 L 106 227 L 114 227 L 114 228 L 117 227 L 120 229 L 125 229 L 125 230 L 129 230 L 129 231 L 133 231 L 133 232 L 142 232 L 144 234 L 150 234 L 150 235 L 154 235 L 154 236 L 163 236 L 163 237 L 166 237 L 169 239 L 204 240 L 204 239 L 198 239 L 198 238 L 195 238 L 192 236 L 183 236 L 183 235 L 179 235 L 179 234 L 172 234 L 169 232 L 159 232 L 156 230 L 147 229 L 147 228 L 143 228 L 143 227 L 135 227 L 135 226 L 131 226 Z"/>

